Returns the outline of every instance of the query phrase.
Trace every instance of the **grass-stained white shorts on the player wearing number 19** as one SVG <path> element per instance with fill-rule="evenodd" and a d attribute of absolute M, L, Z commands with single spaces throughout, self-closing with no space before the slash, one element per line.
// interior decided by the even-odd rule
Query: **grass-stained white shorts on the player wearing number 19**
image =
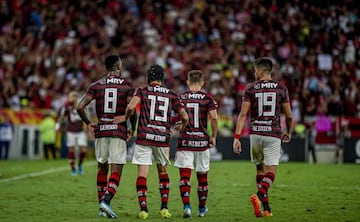
<path fill-rule="evenodd" d="M 271 136 L 250 135 L 251 161 L 256 165 L 279 165 L 281 139 Z"/>

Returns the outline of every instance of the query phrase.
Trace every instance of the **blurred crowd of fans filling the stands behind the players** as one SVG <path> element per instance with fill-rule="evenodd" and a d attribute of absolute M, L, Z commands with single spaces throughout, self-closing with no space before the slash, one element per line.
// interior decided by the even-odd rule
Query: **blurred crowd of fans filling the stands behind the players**
<path fill-rule="evenodd" d="M 268 56 L 290 91 L 294 119 L 360 117 L 357 0 L 0 0 L 0 108 L 59 110 L 118 54 L 145 84 L 153 63 L 185 90 L 201 69 L 222 118 L 239 112 L 252 61 Z"/>

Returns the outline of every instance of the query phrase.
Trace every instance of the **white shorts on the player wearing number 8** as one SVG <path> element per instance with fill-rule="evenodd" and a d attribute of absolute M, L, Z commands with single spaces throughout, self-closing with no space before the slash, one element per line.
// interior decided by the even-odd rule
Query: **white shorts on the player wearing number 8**
<path fill-rule="evenodd" d="M 95 156 L 99 163 L 126 163 L 127 145 L 120 138 L 103 137 L 95 139 Z"/>

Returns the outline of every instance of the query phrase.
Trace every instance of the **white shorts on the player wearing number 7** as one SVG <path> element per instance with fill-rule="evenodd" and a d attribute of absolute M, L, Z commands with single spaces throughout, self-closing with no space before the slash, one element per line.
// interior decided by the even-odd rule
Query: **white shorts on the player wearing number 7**
<path fill-rule="evenodd" d="M 196 172 L 210 170 L 210 149 L 205 151 L 176 151 L 174 166 L 195 169 Z"/>

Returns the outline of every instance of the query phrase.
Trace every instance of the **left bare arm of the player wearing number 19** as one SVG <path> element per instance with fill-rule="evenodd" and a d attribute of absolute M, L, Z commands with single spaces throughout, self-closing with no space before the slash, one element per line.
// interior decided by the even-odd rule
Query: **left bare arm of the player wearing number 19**
<path fill-rule="evenodd" d="M 238 116 L 238 119 L 236 122 L 236 128 L 235 128 L 235 133 L 234 133 L 233 151 L 236 154 L 241 153 L 240 135 L 244 128 L 245 121 L 246 121 L 249 110 L 250 110 L 250 102 L 242 102 L 241 111 L 239 113 L 239 116 Z"/>

